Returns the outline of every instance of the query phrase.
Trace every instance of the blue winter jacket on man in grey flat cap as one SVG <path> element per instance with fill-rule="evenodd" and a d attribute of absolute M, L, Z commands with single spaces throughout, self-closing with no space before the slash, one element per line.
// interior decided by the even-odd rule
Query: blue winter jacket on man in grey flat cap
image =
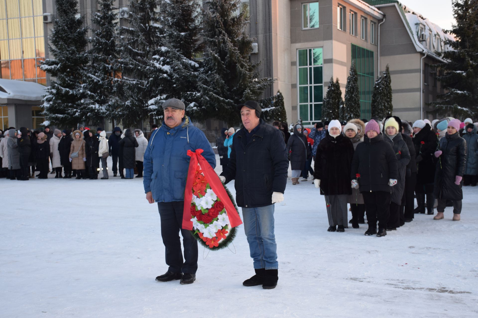
<path fill-rule="evenodd" d="M 169 128 L 163 125 L 152 134 L 144 152 L 144 193 L 152 192 L 156 202 L 183 201 L 187 171 L 191 157 L 187 151 L 203 149 L 207 162 L 216 167 L 216 155 L 206 135 L 195 127 L 189 117 L 183 123 Z"/>

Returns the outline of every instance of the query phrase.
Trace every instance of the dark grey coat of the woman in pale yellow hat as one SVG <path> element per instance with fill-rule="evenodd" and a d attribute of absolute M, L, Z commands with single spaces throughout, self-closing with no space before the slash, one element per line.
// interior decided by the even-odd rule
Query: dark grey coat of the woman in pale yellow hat
<path fill-rule="evenodd" d="M 403 140 L 401 133 L 398 133 L 393 139 L 383 136 L 384 140 L 388 140 L 393 147 L 393 151 L 398 161 L 398 179 L 397 184 L 392 187 L 391 202 L 402 205 L 403 191 L 405 190 L 405 175 L 407 165 L 410 163 L 410 152 L 408 146 Z"/>

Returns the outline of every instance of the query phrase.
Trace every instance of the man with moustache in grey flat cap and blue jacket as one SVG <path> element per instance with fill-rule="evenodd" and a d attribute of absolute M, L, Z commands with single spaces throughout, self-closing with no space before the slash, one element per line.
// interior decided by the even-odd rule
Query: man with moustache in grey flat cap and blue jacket
<path fill-rule="evenodd" d="M 181 279 L 181 284 L 192 284 L 196 280 L 197 241 L 189 230 L 181 228 L 191 159 L 187 151 L 203 149 L 202 155 L 213 169 L 216 167 L 216 155 L 206 135 L 185 116 L 182 101 L 169 99 L 163 103 L 163 110 L 163 125 L 151 134 L 143 162 L 144 193 L 149 203 L 158 203 L 161 236 L 169 266 L 168 271 L 156 280 Z M 183 236 L 184 262 L 179 231 Z"/>

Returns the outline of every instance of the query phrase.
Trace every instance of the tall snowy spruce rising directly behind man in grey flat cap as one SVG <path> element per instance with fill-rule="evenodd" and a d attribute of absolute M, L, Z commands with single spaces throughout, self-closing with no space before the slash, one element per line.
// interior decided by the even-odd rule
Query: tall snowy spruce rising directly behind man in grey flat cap
<path fill-rule="evenodd" d="M 170 98 L 183 100 L 186 105 L 197 104 L 199 73 L 195 57 L 203 45 L 199 41 L 201 10 L 197 1 L 165 1 L 160 13 L 164 32 L 161 55 L 153 56 L 160 94 L 149 102 L 157 107 L 157 118 L 163 118 L 162 104 Z M 188 112 L 189 113 L 189 112 Z"/>

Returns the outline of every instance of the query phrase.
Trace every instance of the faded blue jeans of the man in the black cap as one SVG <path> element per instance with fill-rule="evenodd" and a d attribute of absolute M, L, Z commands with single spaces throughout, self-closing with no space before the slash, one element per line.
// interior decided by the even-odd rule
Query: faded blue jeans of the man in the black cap
<path fill-rule="evenodd" d="M 244 231 L 254 268 L 277 269 L 277 244 L 274 236 L 274 205 L 243 207 Z"/>

